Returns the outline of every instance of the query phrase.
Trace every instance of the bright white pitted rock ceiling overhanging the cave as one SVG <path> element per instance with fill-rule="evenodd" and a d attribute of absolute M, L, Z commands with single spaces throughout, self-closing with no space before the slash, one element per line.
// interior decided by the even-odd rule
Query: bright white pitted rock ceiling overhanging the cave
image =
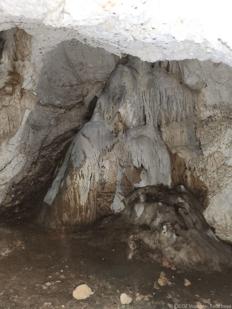
<path fill-rule="evenodd" d="M 232 66 L 230 11 L 228 1 L 2 0 L 0 30 L 19 27 L 33 36 L 35 66 L 23 83 L 33 90 L 43 54 L 72 38 L 149 62 L 197 58 Z"/>

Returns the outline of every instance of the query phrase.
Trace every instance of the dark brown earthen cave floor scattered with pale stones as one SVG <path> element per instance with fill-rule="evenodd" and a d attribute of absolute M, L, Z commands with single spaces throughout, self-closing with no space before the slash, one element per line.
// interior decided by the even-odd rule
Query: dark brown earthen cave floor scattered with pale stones
<path fill-rule="evenodd" d="M 21 242 L 0 260 L 1 309 L 232 306 L 229 269 L 172 270 L 143 256 L 142 249 L 140 259 L 128 260 L 127 243 L 117 239 L 117 231 L 107 238 L 112 230 L 97 223 L 76 233 L 47 231 L 25 219 L 9 220 L 7 225 L 19 232 Z M 172 284 L 157 290 L 154 282 L 161 272 Z M 191 285 L 184 286 L 184 279 Z M 76 300 L 72 291 L 80 284 L 87 284 L 94 293 Z M 129 305 L 120 303 L 121 293 L 132 297 Z M 144 297 L 136 301 L 138 295 Z"/>

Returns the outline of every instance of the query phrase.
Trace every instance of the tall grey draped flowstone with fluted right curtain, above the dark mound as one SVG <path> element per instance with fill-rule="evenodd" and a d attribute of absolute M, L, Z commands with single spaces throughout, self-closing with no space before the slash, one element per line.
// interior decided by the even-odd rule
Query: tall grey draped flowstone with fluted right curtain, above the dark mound
<path fill-rule="evenodd" d="M 39 222 L 88 224 L 121 212 L 135 188 L 157 184 L 185 184 L 203 212 L 199 92 L 186 86 L 182 69 L 177 62 L 119 61 L 44 198 Z"/>

